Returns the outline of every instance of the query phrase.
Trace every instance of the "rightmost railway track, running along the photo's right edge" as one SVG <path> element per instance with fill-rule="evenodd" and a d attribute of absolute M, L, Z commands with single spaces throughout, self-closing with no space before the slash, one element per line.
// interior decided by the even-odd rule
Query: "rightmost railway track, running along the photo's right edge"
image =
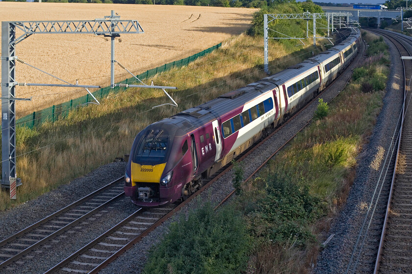
<path fill-rule="evenodd" d="M 399 37 L 402 44 L 412 45 L 412 39 Z M 403 53 L 402 56 L 411 56 Z M 405 68 L 405 100 L 399 143 L 396 151 L 396 169 L 386 205 L 385 222 L 379 241 L 374 273 L 412 273 L 412 61 L 403 60 Z"/>

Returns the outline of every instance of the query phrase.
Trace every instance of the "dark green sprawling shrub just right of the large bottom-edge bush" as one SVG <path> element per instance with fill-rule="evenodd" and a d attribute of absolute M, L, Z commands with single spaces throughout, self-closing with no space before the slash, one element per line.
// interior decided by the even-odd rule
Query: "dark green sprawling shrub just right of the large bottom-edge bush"
<path fill-rule="evenodd" d="M 266 179 L 266 195 L 259 201 L 252 223 L 260 235 L 273 243 L 290 243 L 304 247 L 314 236 L 308 221 L 322 213 L 320 199 L 309 193 L 309 183 L 304 176 L 286 174 L 277 170 Z"/>

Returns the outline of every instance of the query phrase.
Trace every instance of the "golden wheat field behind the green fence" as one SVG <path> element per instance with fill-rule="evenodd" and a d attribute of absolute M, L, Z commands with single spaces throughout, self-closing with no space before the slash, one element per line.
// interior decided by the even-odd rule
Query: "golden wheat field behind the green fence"
<path fill-rule="evenodd" d="M 115 60 L 134 74 L 185 58 L 245 31 L 256 9 L 200 6 L 0 2 L 1 21 L 94 20 L 114 10 L 137 20 L 143 34 L 115 41 Z M 1 29 L 0 29 L 1 31 Z M 21 34 L 16 30 L 17 37 Z M 89 34 L 34 34 L 16 45 L 16 56 L 72 84 L 110 85 L 110 38 Z M 131 75 L 115 66 L 115 82 Z M 64 84 L 16 62 L 16 81 Z M 154 83 L 156 84 L 156 83 Z M 94 91 L 94 90 L 90 90 Z M 19 117 L 87 93 L 84 89 L 16 87 Z"/>

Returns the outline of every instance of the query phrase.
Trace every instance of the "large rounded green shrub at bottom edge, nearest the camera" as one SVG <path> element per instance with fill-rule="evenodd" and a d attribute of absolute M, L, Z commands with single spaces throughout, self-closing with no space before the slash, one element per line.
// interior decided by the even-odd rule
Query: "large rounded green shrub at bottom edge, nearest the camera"
<path fill-rule="evenodd" d="M 225 207 L 217 214 L 210 204 L 189 212 L 151 250 L 146 274 L 238 274 L 247 266 L 250 248 L 239 212 Z"/>

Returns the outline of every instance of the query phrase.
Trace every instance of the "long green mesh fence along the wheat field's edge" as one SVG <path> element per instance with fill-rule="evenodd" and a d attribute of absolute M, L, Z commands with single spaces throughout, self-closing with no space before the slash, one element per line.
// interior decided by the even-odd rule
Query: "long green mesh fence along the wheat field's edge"
<path fill-rule="evenodd" d="M 173 61 L 171 63 L 165 64 L 163 66 L 157 67 L 157 68 L 152 68 L 149 69 L 139 75 L 136 75 L 137 78 L 139 78 L 140 80 L 143 79 L 148 79 L 153 77 L 154 75 L 156 75 L 157 73 L 161 73 L 167 70 L 170 70 L 171 68 L 180 68 L 183 66 L 187 66 L 189 65 L 189 63 L 195 61 L 196 59 L 205 56 L 206 54 L 212 52 L 213 50 L 219 48 L 222 46 L 222 43 L 217 44 L 216 46 L 212 46 L 209 47 L 207 49 L 205 49 L 202 52 L 196 53 L 192 56 L 189 56 L 187 58 L 184 59 L 180 59 L 179 61 Z M 136 82 L 135 78 L 129 78 L 126 79 L 120 83 L 134 83 Z M 117 83 L 117 84 L 120 84 Z M 96 99 L 102 99 L 107 97 L 110 93 L 111 94 L 116 94 L 119 91 L 124 91 L 125 88 L 120 88 L 120 87 L 115 87 L 114 89 L 111 89 L 110 87 L 105 87 L 102 89 L 99 89 L 97 91 L 92 92 L 93 96 L 96 97 Z M 23 127 L 27 127 L 27 128 L 34 128 L 34 127 L 39 127 L 41 126 L 43 123 L 47 123 L 47 122 L 55 122 L 59 119 L 64 119 L 66 118 L 70 111 L 72 111 L 73 109 L 75 109 L 77 106 L 80 105 L 84 105 L 86 103 L 90 103 L 93 102 L 93 98 L 92 96 L 90 96 L 89 94 L 86 94 L 84 96 L 81 96 L 79 98 L 76 99 L 72 99 L 68 102 L 65 103 L 61 103 L 58 105 L 53 105 L 52 107 L 49 107 L 47 109 L 43 109 L 37 112 L 33 112 L 32 114 L 28 114 L 20 119 L 17 119 L 16 121 L 16 126 L 23 126 Z"/>

